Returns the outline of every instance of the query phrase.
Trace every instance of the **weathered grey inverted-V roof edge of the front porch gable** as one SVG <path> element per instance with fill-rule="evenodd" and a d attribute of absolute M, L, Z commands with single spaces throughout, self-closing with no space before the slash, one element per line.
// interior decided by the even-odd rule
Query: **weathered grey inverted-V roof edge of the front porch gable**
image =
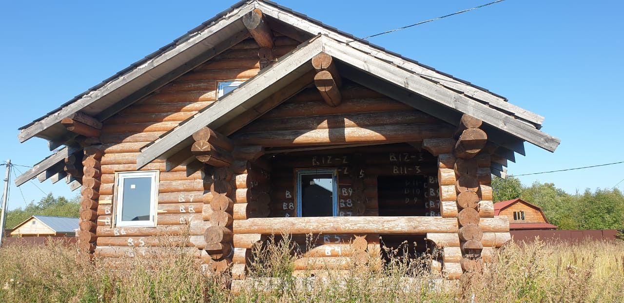
<path fill-rule="evenodd" d="M 329 37 L 318 36 L 286 54 L 279 62 L 215 102 L 212 107 L 205 108 L 172 131 L 165 133 L 154 143 L 147 145 L 137 158 L 137 168 L 147 165 L 156 158 L 167 158 L 187 147 L 192 143 L 192 134 L 200 128 L 205 126 L 217 128 L 258 104 L 296 76 L 310 70 L 312 57 L 321 52 L 331 55 L 341 63 L 343 70 L 346 70 L 343 73 L 344 77 L 452 125 L 457 125 L 459 117 L 467 113 L 481 118 L 490 128 L 500 130 L 508 137 L 531 142 L 549 151 L 554 151 L 559 143 L 557 138 L 527 123 L 431 82 L 426 77 L 396 67 Z"/>

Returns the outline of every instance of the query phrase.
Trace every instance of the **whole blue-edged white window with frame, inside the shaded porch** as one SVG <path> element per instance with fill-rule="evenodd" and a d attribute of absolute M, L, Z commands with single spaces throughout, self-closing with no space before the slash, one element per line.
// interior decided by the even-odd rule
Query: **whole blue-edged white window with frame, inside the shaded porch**
<path fill-rule="evenodd" d="M 338 216 L 338 170 L 313 168 L 296 170 L 297 216 Z"/>

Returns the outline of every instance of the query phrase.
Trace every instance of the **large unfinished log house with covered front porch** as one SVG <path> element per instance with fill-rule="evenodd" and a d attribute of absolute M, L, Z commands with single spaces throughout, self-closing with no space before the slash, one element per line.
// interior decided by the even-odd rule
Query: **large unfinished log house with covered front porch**
<path fill-rule="evenodd" d="M 241 1 L 20 128 L 21 142 L 56 151 L 16 184 L 80 188 L 80 246 L 95 256 L 128 257 L 188 224 L 204 267 L 235 281 L 253 244 L 284 231 L 321 235 L 296 269 L 428 241 L 442 251 L 432 270 L 456 279 L 510 238 L 491 174 L 524 142 L 557 148 L 543 120 L 274 2 Z"/>

